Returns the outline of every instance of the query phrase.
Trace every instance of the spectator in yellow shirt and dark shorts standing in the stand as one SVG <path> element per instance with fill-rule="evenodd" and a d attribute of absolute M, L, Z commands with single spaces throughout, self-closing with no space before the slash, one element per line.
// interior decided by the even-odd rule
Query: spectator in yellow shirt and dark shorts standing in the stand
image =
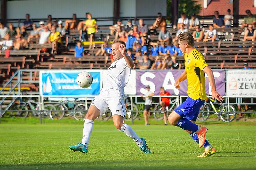
<path fill-rule="evenodd" d="M 79 22 L 78 25 L 80 25 L 80 26 L 77 26 L 77 29 L 81 28 L 82 25 L 85 24 L 83 30 L 87 29 L 88 39 L 90 41 L 89 49 L 91 49 L 92 48 L 92 41 L 94 40 L 94 37 L 95 37 L 95 32 L 96 33 L 98 32 L 98 25 L 96 24 L 96 20 L 92 19 L 92 14 L 87 13 L 86 18 L 87 18 L 86 21 L 80 21 Z"/>

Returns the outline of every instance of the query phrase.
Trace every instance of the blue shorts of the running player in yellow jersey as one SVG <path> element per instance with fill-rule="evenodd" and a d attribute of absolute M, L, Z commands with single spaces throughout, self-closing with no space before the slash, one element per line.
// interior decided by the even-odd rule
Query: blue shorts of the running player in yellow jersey
<path fill-rule="evenodd" d="M 188 120 L 196 121 L 200 108 L 203 106 L 204 102 L 204 100 L 194 100 L 188 97 L 186 101 L 181 103 L 174 111 L 182 118 L 184 117 Z"/>

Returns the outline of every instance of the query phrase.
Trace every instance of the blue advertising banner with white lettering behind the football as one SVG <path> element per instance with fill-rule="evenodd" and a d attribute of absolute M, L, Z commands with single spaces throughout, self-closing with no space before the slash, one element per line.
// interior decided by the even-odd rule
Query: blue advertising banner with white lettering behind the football
<path fill-rule="evenodd" d="M 82 88 L 76 83 L 82 71 L 92 74 L 93 83 Z M 49 70 L 40 71 L 40 94 L 43 96 L 85 96 L 99 95 L 102 88 L 102 70 Z"/>

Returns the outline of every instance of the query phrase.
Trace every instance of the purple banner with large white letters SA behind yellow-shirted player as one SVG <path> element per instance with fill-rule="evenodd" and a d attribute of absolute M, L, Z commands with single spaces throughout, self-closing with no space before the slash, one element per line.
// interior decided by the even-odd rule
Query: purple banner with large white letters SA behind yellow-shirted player
<path fill-rule="evenodd" d="M 146 85 L 150 86 L 150 91 L 159 95 L 160 87 L 163 86 L 171 95 L 187 95 L 187 80 L 180 82 L 180 89 L 174 87 L 175 80 L 180 77 L 184 70 L 168 71 L 136 71 L 136 95 L 146 94 Z M 225 95 L 225 71 L 213 71 L 216 89 L 220 95 Z M 211 95 L 211 87 L 205 74 L 205 91 Z"/>

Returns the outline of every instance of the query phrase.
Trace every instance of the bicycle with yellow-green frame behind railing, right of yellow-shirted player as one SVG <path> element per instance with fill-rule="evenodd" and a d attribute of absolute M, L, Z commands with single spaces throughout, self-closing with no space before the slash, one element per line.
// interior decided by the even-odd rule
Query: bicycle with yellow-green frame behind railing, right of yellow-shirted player
<path fill-rule="evenodd" d="M 219 105 L 219 108 L 217 109 L 214 104 Z M 206 121 L 210 115 L 210 106 L 212 106 L 212 109 L 214 110 L 214 114 L 217 117 L 220 117 L 220 119 L 224 122 L 231 122 L 234 120 L 236 116 L 236 109 L 235 106 L 230 104 L 229 110 L 228 110 L 228 104 L 222 104 L 222 102 L 217 102 L 213 100 L 212 98 L 207 98 L 200 109 L 200 112 L 198 114 L 197 120 L 199 121 Z M 229 115 L 228 115 L 229 114 Z"/>

